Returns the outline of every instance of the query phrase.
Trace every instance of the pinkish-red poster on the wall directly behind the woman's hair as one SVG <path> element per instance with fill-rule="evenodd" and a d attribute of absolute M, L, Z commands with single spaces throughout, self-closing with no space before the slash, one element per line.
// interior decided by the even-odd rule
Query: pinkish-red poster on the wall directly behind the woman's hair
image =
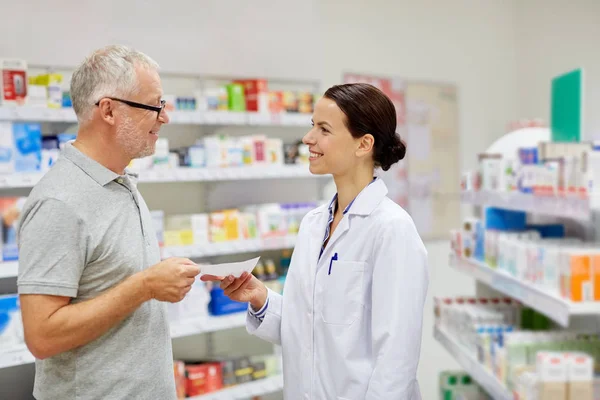
<path fill-rule="evenodd" d="M 396 133 L 406 141 L 406 81 L 404 79 L 346 73 L 343 81 L 344 83 L 368 83 L 385 93 L 396 107 Z M 390 199 L 408 210 L 410 205 L 406 159 L 395 164 L 386 172 L 381 171 L 379 176 L 388 187 Z"/>

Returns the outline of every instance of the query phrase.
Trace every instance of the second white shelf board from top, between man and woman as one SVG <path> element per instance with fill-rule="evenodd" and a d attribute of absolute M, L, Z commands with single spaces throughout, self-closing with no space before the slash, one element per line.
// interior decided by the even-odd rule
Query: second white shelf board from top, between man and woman
<path fill-rule="evenodd" d="M 140 174 L 140 183 L 153 182 L 211 182 L 255 179 L 314 178 L 307 164 L 257 165 L 229 168 L 155 168 Z"/>

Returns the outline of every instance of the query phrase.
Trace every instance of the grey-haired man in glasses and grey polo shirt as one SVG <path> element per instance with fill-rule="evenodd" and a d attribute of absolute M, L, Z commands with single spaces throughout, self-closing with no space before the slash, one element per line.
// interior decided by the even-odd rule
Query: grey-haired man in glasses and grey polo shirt
<path fill-rule="evenodd" d="M 125 170 L 169 122 L 157 70 L 123 46 L 83 61 L 71 81 L 77 139 L 24 207 L 18 289 L 38 400 L 176 398 L 164 302 L 182 300 L 199 268 L 160 262 Z"/>

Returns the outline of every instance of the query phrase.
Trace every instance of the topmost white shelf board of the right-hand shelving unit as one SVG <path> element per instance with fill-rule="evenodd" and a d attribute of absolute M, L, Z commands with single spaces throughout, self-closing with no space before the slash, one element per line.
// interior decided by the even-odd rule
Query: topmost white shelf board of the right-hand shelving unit
<path fill-rule="evenodd" d="M 479 206 L 525 211 L 589 221 L 590 200 L 577 195 L 542 196 L 521 192 L 463 191 L 461 201 Z"/>

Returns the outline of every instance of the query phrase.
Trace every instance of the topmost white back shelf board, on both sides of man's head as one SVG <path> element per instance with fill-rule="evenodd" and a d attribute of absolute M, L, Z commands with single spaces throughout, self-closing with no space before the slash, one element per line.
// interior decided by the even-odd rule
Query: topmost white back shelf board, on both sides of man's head
<path fill-rule="evenodd" d="M 231 111 L 170 111 L 170 123 L 187 125 L 310 126 L 311 115 Z M 0 121 L 77 123 L 72 108 L 0 107 Z"/>

